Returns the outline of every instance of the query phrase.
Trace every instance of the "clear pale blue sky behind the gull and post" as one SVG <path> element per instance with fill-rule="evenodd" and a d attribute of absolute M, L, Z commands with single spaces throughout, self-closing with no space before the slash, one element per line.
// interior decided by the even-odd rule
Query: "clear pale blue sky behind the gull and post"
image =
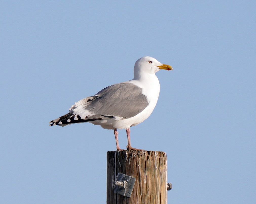
<path fill-rule="evenodd" d="M 167 153 L 168 203 L 254 203 L 255 1 L 2 1 L 2 203 L 105 203 L 113 131 L 49 127 L 152 56 L 155 110 L 133 147 Z M 127 145 L 119 131 L 121 148 Z"/>

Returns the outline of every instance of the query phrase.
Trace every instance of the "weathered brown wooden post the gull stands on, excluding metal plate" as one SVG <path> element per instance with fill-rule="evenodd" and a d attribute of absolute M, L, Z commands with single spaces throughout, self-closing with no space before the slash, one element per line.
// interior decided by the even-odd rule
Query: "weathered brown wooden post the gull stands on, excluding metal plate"
<path fill-rule="evenodd" d="M 113 192 L 118 173 L 136 178 L 131 197 Z M 107 153 L 107 204 L 167 203 L 167 158 L 165 152 L 145 150 Z"/>

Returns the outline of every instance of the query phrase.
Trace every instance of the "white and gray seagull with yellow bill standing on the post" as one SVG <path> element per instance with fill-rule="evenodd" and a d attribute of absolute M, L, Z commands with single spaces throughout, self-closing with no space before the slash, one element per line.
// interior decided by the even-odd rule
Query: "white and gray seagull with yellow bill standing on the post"
<path fill-rule="evenodd" d="M 93 96 L 81 99 L 71 106 L 69 112 L 55 120 L 49 126 L 66 126 L 73 123 L 90 122 L 104 129 L 114 130 L 116 150 L 118 129 L 126 129 L 127 149 L 131 147 L 130 127 L 147 119 L 154 110 L 160 84 L 155 73 L 159 70 L 173 70 L 170 65 L 162 64 L 153 57 L 142 57 L 135 62 L 134 78 L 102 89 Z"/>

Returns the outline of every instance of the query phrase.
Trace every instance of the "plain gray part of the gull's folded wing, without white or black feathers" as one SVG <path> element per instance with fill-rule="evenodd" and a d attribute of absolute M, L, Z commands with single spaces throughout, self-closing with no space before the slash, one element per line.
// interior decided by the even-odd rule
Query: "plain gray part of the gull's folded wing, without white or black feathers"
<path fill-rule="evenodd" d="M 95 94 L 85 108 L 95 115 L 129 118 L 142 112 L 148 101 L 142 89 L 129 82 L 111 85 Z"/>

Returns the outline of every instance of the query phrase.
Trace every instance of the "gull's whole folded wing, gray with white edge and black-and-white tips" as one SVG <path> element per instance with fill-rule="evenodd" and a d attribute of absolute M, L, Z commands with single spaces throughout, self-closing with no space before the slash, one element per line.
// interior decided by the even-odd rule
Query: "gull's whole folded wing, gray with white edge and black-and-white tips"
<path fill-rule="evenodd" d="M 142 89 L 129 82 L 111 85 L 94 96 L 75 103 L 69 113 L 50 122 L 50 126 L 114 118 L 121 120 L 142 112 L 148 106 Z"/>

